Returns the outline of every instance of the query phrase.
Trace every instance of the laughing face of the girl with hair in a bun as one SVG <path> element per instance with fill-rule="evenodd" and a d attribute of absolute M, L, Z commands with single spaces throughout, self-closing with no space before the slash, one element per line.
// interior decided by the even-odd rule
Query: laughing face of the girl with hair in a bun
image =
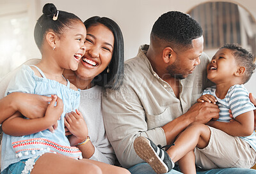
<path fill-rule="evenodd" d="M 72 69 L 76 71 L 81 57 L 83 57 L 86 47 L 84 41 L 86 38 L 86 28 L 83 22 L 73 22 L 70 28 L 67 28 L 61 34 L 56 44 L 56 57 L 59 57 L 58 63 L 61 68 Z"/>

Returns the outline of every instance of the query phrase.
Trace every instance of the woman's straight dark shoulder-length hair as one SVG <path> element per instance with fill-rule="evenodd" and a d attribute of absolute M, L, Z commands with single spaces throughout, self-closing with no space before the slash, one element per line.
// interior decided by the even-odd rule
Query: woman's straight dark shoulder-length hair
<path fill-rule="evenodd" d="M 109 89 L 118 89 L 124 78 L 124 39 L 123 34 L 115 21 L 107 17 L 91 17 L 84 21 L 86 29 L 90 26 L 105 25 L 114 35 L 114 49 L 109 66 L 99 75 L 95 76 L 93 83 Z M 109 73 L 107 69 L 109 68 Z"/>

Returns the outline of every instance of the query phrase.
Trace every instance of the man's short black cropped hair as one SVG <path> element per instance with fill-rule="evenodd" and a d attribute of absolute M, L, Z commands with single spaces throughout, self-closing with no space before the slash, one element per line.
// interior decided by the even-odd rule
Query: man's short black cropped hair
<path fill-rule="evenodd" d="M 191 48 L 192 40 L 200 38 L 202 27 L 189 15 L 180 11 L 169 11 L 157 19 L 151 37 L 164 41 L 169 47 Z"/>

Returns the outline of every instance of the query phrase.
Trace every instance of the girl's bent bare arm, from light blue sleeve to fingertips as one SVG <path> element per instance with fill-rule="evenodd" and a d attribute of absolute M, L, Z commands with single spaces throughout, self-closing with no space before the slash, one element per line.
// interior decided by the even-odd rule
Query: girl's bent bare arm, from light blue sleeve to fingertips
<path fill-rule="evenodd" d="M 57 103 L 56 106 L 54 104 Z M 26 107 L 30 110 L 30 106 Z M 45 112 L 45 117 L 37 119 L 23 119 L 20 113 L 16 112 L 12 117 L 3 122 L 2 129 L 4 133 L 12 134 L 13 136 L 20 136 L 24 134 L 33 134 L 43 131 L 48 127 L 54 125 L 63 113 L 63 102 L 56 95 L 52 95 L 51 103 L 48 105 Z"/>

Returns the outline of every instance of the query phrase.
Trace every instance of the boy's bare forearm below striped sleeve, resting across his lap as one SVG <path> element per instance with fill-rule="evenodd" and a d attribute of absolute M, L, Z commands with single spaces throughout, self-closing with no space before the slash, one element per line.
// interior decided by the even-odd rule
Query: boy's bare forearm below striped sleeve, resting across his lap
<path fill-rule="evenodd" d="M 210 121 L 207 125 L 231 136 L 250 136 L 254 131 L 254 113 L 253 111 L 242 113 L 233 122 Z"/>

